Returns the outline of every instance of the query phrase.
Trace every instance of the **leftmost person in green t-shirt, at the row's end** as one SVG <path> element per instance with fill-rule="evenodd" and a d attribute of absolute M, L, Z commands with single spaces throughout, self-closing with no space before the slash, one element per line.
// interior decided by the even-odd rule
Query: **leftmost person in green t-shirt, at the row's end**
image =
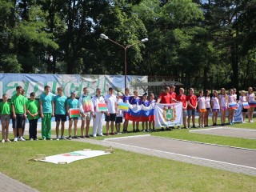
<path fill-rule="evenodd" d="M 11 114 L 11 105 L 10 102 L 7 102 L 7 94 L 2 95 L 2 102 L 0 102 L 0 116 L 2 124 L 2 142 L 10 142 L 8 138 L 9 134 L 9 123 L 10 123 L 10 114 Z"/>

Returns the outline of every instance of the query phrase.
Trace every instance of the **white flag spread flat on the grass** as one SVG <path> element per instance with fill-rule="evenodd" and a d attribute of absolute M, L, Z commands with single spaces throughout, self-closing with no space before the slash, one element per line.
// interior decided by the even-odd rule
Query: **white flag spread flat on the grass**
<path fill-rule="evenodd" d="M 52 162 L 55 164 L 66 164 L 85 158 L 94 158 L 100 155 L 110 154 L 102 150 L 78 150 L 66 154 L 56 154 L 46 157 L 46 160 L 40 160 L 42 162 Z"/>

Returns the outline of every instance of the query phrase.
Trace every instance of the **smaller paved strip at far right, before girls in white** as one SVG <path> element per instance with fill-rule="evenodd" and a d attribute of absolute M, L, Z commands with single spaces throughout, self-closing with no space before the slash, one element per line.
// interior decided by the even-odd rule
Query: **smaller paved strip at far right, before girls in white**
<path fill-rule="evenodd" d="M 227 136 L 232 138 L 256 139 L 256 130 L 251 130 L 251 129 L 217 127 L 217 128 L 204 129 L 204 130 L 190 130 L 190 133 L 213 134 L 213 135 Z"/>

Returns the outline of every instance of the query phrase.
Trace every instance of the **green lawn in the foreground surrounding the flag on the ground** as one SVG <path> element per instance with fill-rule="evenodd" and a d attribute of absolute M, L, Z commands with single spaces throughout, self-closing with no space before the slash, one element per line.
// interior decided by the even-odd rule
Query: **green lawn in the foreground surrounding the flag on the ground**
<path fill-rule="evenodd" d="M 184 132 L 174 131 L 175 132 Z M 169 133 L 169 132 L 168 132 Z M 163 133 L 166 134 L 166 133 Z M 115 150 L 66 165 L 31 162 L 35 154 L 105 147 L 82 142 L 0 143 L 0 171 L 39 191 L 255 191 L 256 177 Z"/>

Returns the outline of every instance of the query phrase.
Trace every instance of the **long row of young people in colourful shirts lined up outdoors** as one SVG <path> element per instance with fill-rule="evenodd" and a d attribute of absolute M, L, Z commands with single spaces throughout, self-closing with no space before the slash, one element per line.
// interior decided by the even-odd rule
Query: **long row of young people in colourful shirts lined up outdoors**
<path fill-rule="evenodd" d="M 76 98 L 76 91 L 72 91 L 70 98 L 67 98 L 63 92 L 62 87 L 58 87 L 58 94 L 50 93 L 50 86 L 44 87 L 44 92 L 40 95 L 39 101 L 35 99 L 35 94 L 30 93 L 30 99 L 25 96 L 25 90 L 22 86 L 16 87 L 16 94 L 10 98 L 8 102 L 7 94 L 3 94 L 3 101 L 0 103 L 0 115 L 2 123 L 2 142 L 10 142 L 9 136 L 9 124 L 10 119 L 12 120 L 12 126 L 14 130 L 14 142 L 26 141 L 23 137 L 24 128 L 26 125 L 26 119 L 29 121 L 29 134 L 30 140 L 38 140 L 37 137 L 37 126 L 38 118 L 42 118 L 42 139 L 52 140 L 50 130 L 51 130 L 51 119 L 55 117 L 56 121 L 56 140 L 66 139 L 64 137 L 64 128 L 66 118 L 69 120 L 69 137 L 72 139 L 71 132 L 74 126 L 74 137 L 73 138 L 90 138 L 89 127 L 90 120 L 93 118 L 93 130 L 92 137 L 104 136 L 102 134 L 102 122 L 105 116 L 106 121 L 106 135 L 110 134 L 121 134 L 121 124 L 123 122 L 122 133 L 127 133 L 127 128 L 129 120 L 126 119 L 126 112 L 118 110 L 118 103 L 126 102 L 131 105 L 144 105 L 150 106 L 152 102 L 158 103 L 175 103 L 182 102 L 182 118 L 183 118 L 183 128 L 197 128 L 195 126 L 195 114 L 198 110 L 198 124 L 199 127 L 208 126 L 209 113 L 212 111 L 212 126 L 217 125 L 218 113 L 221 113 L 221 125 L 226 125 L 226 113 L 228 112 L 228 123 L 233 125 L 235 104 L 237 102 L 242 103 L 242 116 L 243 121 L 246 120 L 246 113 L 248 112 L 248 122 L 253 122 L 253 112 L 255 102 L 255 94 L 252 87 L 249 87 L 248 93 L 245 90 L 240 92 L 241 96 L 238 98 L 235 89 L 230 89 L 229 93 L 222 88 L 221 93 L 218 94 L 217 90 L 214 90 L 214 94 L 210 97 L 210 91 L 203 90 L 199 91 L 199 97 L 194 94 L 194 89 L 190 88 L 190 94 L 184 94 L 184 89 L 179 89 L 179 94 L 175 93 L 175 86 L 166 86 L 165 92 L 161 93 L 158 100 L 154 99 L 154 94 L 150 94 L 150 99 L 148 100 L 148 95 L 145 93 L 142 98 L 138 96 L 138 91 L 134 91 L 134 96 L 130 95 L 130 90 L 126 88 L 125 93 L 114 95 L 113 88 L 109 88 L 108 94 L 105 97 L 102 96 L 101 89 L 96 89 L 96 94 L 93 98 L 89 96 L 89 89 L 87 87 L 83 88 L 83 94 L 79 99 Z M 97 106 L 99 103 L 106 103 L 106 111 L 98 111 Z M 80 118 L 82 120 L 81 124 L 81 137 L 78 137 L 78 117 L 70 116 L 70 109 L 79 109 Z M 105 114 L 105 115 L 104 115 Z M 187 119 L 186 119 L 187 118 Z M 192 126 L 190 126 L 190 120 L 192 119 Z M 116 131 L 114 132 L 114 124 Z M 138 132 L 139 122 L 133 122 L 133 131 Z M 61 127 L 61 129 L 59 129 Z M 86 128 L 86 129 L 85 129 Z M 170 130 L 171 127 L 166 127 Z M 178 129 L 181 129 L 178 126 Z M 61 134 L 59 134 L 59 130 Z M 162 130 L 164 130 L 162 128 Z M 154 121 L 142 122 L 142 131 L 154 131 Z M 59 137 L 60 135 L 60 137 Z"/>

